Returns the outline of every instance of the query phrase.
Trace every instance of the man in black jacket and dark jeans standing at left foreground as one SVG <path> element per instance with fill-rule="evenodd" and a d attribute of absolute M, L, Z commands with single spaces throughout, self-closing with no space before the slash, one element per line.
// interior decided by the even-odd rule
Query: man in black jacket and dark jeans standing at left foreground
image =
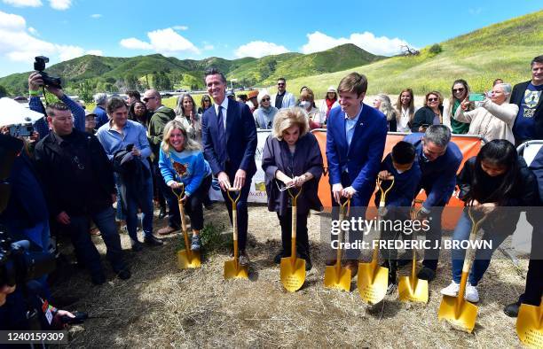
<path fill-rule="evenodd" d="M 106 275 L 89 234 L 89 218 L 100 230 L 114 272 L 123 280 L 130 278 L 115 225 L 116 191 L 106 152 L 95 136 L 74 128 L 67 105 L 53 103 L 46 113 L 52 132 L 35 146 L 35 163 L 51 217 L 71 237 L 92 283 L 105 283 Z"/>

